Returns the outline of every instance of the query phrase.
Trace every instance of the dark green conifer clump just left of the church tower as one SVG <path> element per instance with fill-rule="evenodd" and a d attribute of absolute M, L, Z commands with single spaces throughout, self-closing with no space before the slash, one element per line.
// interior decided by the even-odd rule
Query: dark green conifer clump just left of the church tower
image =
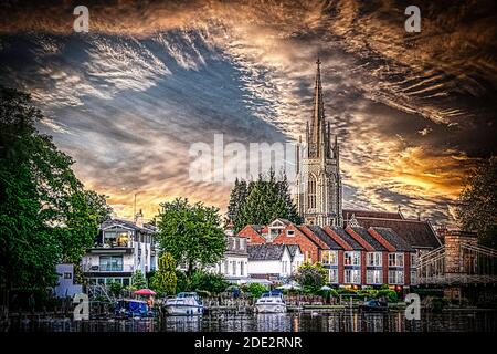
<path fill-rule="evenodd" d="M 276 178 L 273 169 L 266 176 L 260 175 L 248 186 L 235 181 L 230 196 L 228 218 L 240 231 L 248 223 L 266 225 L 276 218 L 302 223 L 297 207 L 292 200 L 286 175 Z"/>

